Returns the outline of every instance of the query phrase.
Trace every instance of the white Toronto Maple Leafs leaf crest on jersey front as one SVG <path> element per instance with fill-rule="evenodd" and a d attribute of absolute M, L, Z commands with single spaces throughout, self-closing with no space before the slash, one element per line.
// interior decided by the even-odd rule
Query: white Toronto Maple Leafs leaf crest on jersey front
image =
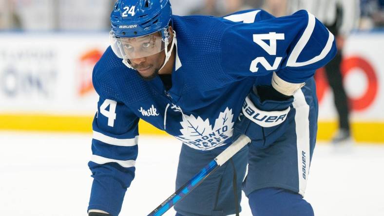
<path fill-rule="evenodd" d="M 194 149 L 210 150 L 224 145 L 224 141 L 232 136 L 233 124 L 232 109 L 228 107 L 224 112 L 220 112 L 218 118 L 211 126 L 210 120 L 203 120 L 200 116 L 184 115 L 183 121 L 180 122 L 182 129 L 181 136 L 176 138 L 181 140 Z"/>

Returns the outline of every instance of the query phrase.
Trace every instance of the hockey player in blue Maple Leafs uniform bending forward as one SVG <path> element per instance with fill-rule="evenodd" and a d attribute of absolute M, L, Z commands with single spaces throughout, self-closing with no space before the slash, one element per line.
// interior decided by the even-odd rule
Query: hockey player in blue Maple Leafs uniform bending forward
<path fill-rule="evenodd" d="M 307 11 L 179 17 L 169 0 L 117 0 L 111 22 L 93 72 L 90 216 L 119 214 L 140 118 L 183 143 L 176 188 L 240 134 L 252 140 L 175 205 L 177 216 L 238 214 L 241 188 L 255 216 L 313 215 L 303 199 L 317 131 L 312 76 L 336 53 L 320 21 Z"/>

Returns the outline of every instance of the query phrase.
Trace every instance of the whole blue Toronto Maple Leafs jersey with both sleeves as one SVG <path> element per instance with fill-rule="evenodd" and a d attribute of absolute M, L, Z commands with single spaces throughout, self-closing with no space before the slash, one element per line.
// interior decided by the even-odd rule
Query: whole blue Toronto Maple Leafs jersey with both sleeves
<path fill-rule="evenodd" d="M 89 209 L 120 212 L 134 179 L 139 119 L 194 149 L 224 148 L 253 85 L 270 85 L 272 72 L 287 83 L 304 83 L 336 53 L 332 34 L 307 11 L 282 18 L 263 10 L 173 16 L 173 29 L 170 90 L 159 77 L 142 80 L 111 48 L 95 66 L 100 99 L 88 164 L 94 178 Z"/>

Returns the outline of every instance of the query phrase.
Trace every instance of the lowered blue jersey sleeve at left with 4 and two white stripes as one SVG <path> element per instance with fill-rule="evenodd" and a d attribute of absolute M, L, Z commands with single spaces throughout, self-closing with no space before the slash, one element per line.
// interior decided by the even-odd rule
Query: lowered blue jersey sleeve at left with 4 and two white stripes
<path fill-rule="evenodd" d="M 118 215 L 124 195 L 134 179 L 139 118 L 125 104 L 100 95 L 92 124 L 92 156 L 88 166 L 93 183 L 88 210 Z"/>

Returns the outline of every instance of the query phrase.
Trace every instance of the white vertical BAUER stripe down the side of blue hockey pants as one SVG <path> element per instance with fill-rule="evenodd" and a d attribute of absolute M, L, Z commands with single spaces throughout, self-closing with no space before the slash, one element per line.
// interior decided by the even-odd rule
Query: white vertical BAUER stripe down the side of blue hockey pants
<path fill-rule="evenodd" d="M 297 145 L 297 165 L 299 175 L 299 194 L 304 196 L 309 173 L 309 106 L 303 91 L 297 90 L 293 95 L 295 100 L 293 108 L 296 109 L 296 145 Z"/>

